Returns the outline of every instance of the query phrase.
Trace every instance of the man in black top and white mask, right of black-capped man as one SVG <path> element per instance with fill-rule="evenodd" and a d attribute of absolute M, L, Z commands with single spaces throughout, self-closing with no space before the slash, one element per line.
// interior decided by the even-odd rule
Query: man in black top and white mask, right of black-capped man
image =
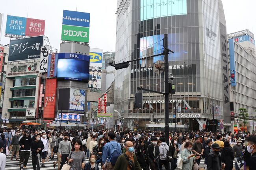
<path fill-rule="evenodd" d="M 36 135 L 35 141 L 32 141 L 30 146 L 32 151 L 33 170 L 40 170 L 40 159 L 37 154 L 42 154 L 42 150 L 45 148 L 43 142 L 40 139 L 41 136 Z"/>

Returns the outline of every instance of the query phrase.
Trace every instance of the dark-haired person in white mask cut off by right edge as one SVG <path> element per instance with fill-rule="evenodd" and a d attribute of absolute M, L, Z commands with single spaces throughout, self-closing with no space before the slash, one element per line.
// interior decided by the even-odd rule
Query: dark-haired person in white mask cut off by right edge
<path fill-rule="evenodd" d="M 247 138 L 248 145 L 246 147 L 247 151 L 252 155 L 250 158 L 250 165 L 249 168 L 250 170 L 255 169 L 256 165 L 256 135 L 250 135 Z"/>

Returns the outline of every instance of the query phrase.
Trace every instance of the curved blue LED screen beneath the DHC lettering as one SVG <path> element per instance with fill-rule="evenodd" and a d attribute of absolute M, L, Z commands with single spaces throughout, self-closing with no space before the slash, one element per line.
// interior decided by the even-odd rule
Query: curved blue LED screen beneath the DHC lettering
<path fill-rule="evenodd" d="M 57 78 L 88 82 L 89 62 L 67 58 L 58 59 Z"/>

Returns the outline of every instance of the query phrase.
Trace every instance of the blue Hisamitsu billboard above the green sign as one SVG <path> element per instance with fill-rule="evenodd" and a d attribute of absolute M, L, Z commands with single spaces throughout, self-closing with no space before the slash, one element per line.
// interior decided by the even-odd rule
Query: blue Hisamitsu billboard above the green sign
<path fill-rule="evenodd" d="M 63 25 L 90 27 L 90 13 L 63 10 Z"/>

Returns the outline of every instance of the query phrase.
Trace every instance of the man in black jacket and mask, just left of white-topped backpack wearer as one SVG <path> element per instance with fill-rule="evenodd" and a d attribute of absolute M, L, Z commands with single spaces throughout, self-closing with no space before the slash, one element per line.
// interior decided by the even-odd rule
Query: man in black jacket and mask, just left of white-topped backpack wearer
<path fill-rule="evenodd" d="M 158 170 L 159 161 L 159 146 L 157 145 L 157 138 L 152 137 L 152 144 L 148 145 L 148 158 L 149 166 L 151 170 Z"/>

